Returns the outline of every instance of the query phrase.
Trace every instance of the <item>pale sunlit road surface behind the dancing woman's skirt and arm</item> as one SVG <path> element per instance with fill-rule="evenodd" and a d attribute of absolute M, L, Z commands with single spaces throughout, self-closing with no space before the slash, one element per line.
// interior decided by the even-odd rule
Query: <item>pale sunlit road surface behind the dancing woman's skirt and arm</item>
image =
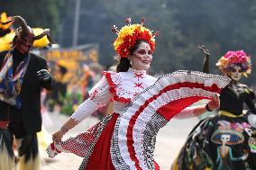
<path fill-rule="evenodd" d="M 46 140 L 50 140 L 50 134 L 58 130 L 61 124 L 68 118 L 60 115 L 59 113 L 50 113 L 50 119 L 53 121 L 50 127 L 46 126 L 48 135 L 43 133 Z M 89 127 L 94 125 L 97 119 L 89 117 L 82 123 L 78 124 L 76 128 L 69 131 L 67 136 L 75 136 L 79 132 L 87 130 Z M 197 118 L 189 120 L 175 120 L 169 121 L 169 123 L 160 130 L 157 137 L 157 144 L 155 149 L 155 160 L 159 163 L 161 170 L 168 170 L 171 163 L 178 154 L 179 149 L 187 138 L 187 134 L 197 123 Z M 45 142 L 45 141 L 44 141 Z M 50 142 L 50 141 L 48 141 Z M 60 154 L 54 159 L 47 157 L 44 151 L 43 145 L 41 145 L 41 157 L 42 164 L 41 170 L 75 170 L 78 169 L 79 164 L 82 161 L 81 157 L 77 157 L 72 154 Z"/>

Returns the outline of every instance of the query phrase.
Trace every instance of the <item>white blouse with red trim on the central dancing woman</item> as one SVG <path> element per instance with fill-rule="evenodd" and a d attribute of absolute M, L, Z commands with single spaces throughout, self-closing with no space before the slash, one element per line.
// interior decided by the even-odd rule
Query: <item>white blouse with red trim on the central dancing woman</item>
<path fill-rule="evenodd" d="M 77 122 L 83 121 L 110 100 L 114 101 L 114 112 L 120 113 L 130 103 L 131 98 L 155 81 L 156 78 L 146 75 L 146 71 L 132 68 L 119 73 L 106 71 L 103 78 L 89 91 L 90 97 L 78 106 L 71 118 Z"/>

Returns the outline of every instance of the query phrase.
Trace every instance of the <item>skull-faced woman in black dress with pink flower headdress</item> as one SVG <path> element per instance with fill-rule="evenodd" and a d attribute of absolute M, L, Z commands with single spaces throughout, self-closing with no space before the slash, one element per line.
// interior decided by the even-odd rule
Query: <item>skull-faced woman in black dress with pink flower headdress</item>
<path fill-rule="evenodd" d="M 204 71 L 208 71 L 209 52 Z M 256 169 L 256 109 L 254 94 L 239 83 L 251 73 L 251 58 L 244 51 L 228 51 L 216 66 L 232 79 L 220 94 L 220 109 L 214 117 L 200 121 L 172 165 L 172 170 L 254 170 Z M 243 104 L 250 112 L 243 113 Z"/>

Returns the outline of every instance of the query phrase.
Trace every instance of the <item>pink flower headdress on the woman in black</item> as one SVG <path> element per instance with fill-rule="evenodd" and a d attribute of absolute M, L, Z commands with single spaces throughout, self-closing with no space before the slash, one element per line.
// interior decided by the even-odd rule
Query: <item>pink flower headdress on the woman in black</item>
<path fill-rule="evenodd" d="M 228 51 L 222 58 L 218 60 L 216 66 L 222 73 L 230 71 L 234 66 L 242 68 L 242 75 L 251 74 L 251 57 L 247 56 L 243 50 Z"/>

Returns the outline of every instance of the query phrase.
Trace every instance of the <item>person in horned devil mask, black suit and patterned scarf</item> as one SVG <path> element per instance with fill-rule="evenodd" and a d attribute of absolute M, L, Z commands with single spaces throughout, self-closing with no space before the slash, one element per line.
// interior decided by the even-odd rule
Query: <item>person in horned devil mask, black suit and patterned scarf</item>
<path fill-rule="evenodd" d="M 0 53 L 0 170 L 14 168 L 14 138 L 18 146 L 18 170 L 37 170 L 40 156 L 36 133 L 41 131 L 41 88 L 52 86 L 44 58 L 30 50 L 35 36 L 21 16 L 10 17 L 3 25 L 16 22 L 13 47 Z M 50 40 L 51 42 L 51 40 Z"/>

